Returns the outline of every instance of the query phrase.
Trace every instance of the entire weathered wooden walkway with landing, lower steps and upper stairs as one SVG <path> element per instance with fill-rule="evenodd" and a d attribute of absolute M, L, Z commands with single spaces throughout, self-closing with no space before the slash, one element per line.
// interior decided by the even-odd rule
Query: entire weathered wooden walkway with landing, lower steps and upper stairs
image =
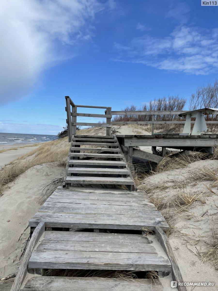
<path fill-rule="evenodd" d="M 145 278 L 44 276 L 48 269 L 165 274 L 175 264 L 164 234 L 167 222 L 137 191 L 116 136 L 72 136 L 63 186 L 29 221 L 35 230 L 12 291 L 164 290 L 158 280 Z M 157 238 L 150 241 L 143 229 Z M 25 263 L 37 276 L 25 277 Z"/>

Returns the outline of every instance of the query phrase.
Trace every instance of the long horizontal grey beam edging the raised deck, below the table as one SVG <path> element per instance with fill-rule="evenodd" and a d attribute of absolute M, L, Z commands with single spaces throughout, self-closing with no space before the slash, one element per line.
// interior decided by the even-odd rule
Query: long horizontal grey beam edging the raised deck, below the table
<path fill-rule="evenodd" d="M 144 139 L 144 138 L 124 138 L 125 146 L 164 146 L 169 148 L 170 146 L 217 146 L 218 139 L 212 138 L 152 138 L 152 139 Z"/>

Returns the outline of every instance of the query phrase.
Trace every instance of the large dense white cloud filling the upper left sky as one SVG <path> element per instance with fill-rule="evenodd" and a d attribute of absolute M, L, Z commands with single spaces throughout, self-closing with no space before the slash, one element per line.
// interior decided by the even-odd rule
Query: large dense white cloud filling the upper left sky
<path fill-rule="evenodd" d="M 19 99 L 44 69 L 74 56 L 102 9 L 97 0 L 2 0 L 0 103 Z"/>

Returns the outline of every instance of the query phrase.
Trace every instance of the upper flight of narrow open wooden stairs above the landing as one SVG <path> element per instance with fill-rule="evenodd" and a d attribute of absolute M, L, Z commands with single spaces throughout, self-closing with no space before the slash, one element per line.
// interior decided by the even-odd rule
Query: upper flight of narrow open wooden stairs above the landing
<path fill-rule="evenodd" d="M 116 136 L 72 136 L 64 186 L 76 184 L 137 190 Z"/>

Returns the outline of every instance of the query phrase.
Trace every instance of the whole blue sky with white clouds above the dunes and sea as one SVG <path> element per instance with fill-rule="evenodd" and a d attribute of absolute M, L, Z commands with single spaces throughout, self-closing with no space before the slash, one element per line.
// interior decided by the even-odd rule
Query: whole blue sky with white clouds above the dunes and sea
<path fill-rule="evenodd" d="M 1 0 L 0 132 L 57 134 L 66 95 L 112 110 L 189 100 L 217 79 L 217 14 L 201 0 Z"/>

